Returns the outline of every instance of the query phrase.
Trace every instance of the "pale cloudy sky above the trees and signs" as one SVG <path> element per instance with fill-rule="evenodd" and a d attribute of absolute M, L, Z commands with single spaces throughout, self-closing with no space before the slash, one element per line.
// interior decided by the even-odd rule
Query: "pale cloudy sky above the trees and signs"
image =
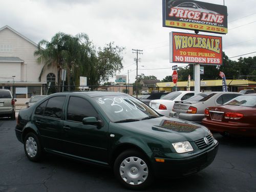
<path fill-rule="evenodd" d="M 223 51 L 233 57 L 232 60 L 239 58 L 234 56 L 256 51 L 255 0 L 203 2 L 219 5 L 225 2 L 228 33 L 200 34 L 222 36 Z M 161 0 L 0 0 L 0 5 L 0 28 L 8 25 L 36 44 L 41 39 L 50 41 L 57 32 L 71 35 L 82 32 L 89 35 L 96 47 L 111 41 L 125 47 L 124 68 L 116 75 L 127 75 L 129 70 L 129 82 L 135 81 L 136 77 L 136 54 L 132 49 L 143 50 L 139 55 L 138 74 L 154 75 L 162 80 L 173 73 L 174 64 L 169 63 L 169 32 L 194 33 L 162 27 Z"/>

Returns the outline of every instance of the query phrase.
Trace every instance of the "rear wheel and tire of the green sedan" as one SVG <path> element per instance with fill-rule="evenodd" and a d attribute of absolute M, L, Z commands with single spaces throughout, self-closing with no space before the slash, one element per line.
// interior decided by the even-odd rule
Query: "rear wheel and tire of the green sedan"
<path fill-rule="evenodd" d="M 41 145 L 38 137 L 34 133 L 28 133 L 25 136 L 24 150 L 29 160 L 36 162 L 41 159 Z"/>

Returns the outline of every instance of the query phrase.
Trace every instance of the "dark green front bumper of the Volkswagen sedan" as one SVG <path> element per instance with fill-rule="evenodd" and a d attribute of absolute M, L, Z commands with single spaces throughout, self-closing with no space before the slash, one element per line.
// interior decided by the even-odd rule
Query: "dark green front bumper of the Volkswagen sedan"
<path fill-rule="evenodd" d="M 219 143 L 217 142 L 209 150 L 192 157 L 183 159 L 164 158 L 164 162 L 155 162 L 153 164 L 155 176 L 157 178 L 180 178 L 195 174 L 214 161 L 218 146 Z"/>

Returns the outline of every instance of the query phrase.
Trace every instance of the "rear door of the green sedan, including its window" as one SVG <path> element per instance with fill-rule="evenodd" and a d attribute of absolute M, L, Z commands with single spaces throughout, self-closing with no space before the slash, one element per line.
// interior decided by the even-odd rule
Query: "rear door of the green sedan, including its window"
<path fill-rule="evenodd" d="M 46 150 L 64 152 L 62 111 L 66 96 L 55 96 L 37 106 L 33 123 Z"/>

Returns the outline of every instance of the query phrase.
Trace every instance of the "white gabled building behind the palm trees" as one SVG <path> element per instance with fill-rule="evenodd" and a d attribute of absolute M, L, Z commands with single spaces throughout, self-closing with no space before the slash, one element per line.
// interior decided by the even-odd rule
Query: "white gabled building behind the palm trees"
<path fill-rule="evenodd" d="M 34 56 L 37 44 L 9 26 L 0 28 L 0 89 L 12 90 L 15 97 L 40 95 L 46 84 L 57 81 L 57 69 L 47 69 Z M 20 92 L 20 93 L 18 93 Z"/>

